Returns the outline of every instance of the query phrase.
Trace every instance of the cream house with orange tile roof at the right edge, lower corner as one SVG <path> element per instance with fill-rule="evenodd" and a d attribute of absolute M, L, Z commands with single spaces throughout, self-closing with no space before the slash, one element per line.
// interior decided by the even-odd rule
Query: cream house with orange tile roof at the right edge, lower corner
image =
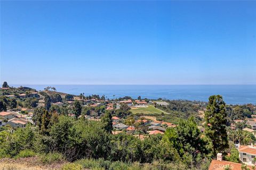
<path fill-rule="evenodd" d="M 240 146 L 239 158 L 246 165 L 254 165 L 254 158 L 256 157 L 256 147 L 251 144 L 251 146 Z"/>

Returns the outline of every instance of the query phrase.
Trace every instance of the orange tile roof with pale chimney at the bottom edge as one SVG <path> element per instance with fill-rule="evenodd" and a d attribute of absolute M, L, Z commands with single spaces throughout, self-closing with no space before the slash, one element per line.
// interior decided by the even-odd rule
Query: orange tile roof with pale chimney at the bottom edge
<path fill-rule="evenodd" d="M 222 160 L 222 154 L 217 154 L 217 160 L 212 160 L 209 170 L 225 170 L 229 167 L 230 170 L 242 170 L 242 164 L 233 163 L 229 161 Z M 247 166 L 252 170 L 251 166 Z"/>

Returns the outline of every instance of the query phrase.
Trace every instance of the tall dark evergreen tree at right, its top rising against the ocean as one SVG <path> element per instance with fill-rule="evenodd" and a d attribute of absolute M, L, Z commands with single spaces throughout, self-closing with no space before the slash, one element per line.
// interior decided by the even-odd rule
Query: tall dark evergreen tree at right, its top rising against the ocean
<path fill-rule="evenodd" d="M 227 113 L 226 104 L 220 95 L 209 97 L 209 103 L 206 106 L 205 134 L 212 141 L 213 156 L 218 152 L 225 153 L 228 146 L 228 135 L 226 130 Z"/>

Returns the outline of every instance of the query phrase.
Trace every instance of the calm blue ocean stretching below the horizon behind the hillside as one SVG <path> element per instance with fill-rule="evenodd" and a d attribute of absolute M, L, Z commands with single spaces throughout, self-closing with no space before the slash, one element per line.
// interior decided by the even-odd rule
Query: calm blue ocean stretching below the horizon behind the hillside
<path fill-rule="evenodd" d="M 43 90 L 46 85 L 13 84 Z M 256 85 L 49 85 L 57 91 L 79 95 L 105 95 L 109 99 L 130 96 L 148 99 L 187 99 L 207 101 L 221 95 L 227 104 L 256 104 Z"/>

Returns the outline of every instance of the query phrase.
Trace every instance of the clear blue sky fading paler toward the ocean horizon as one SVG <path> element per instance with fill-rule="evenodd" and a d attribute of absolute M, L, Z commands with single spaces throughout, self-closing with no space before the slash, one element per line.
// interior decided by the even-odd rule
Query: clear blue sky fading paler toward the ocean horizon
<path fill-rule="evenodd" d="M 256 1 L 1 1 L 1 82 L 256 84 Z"/>

